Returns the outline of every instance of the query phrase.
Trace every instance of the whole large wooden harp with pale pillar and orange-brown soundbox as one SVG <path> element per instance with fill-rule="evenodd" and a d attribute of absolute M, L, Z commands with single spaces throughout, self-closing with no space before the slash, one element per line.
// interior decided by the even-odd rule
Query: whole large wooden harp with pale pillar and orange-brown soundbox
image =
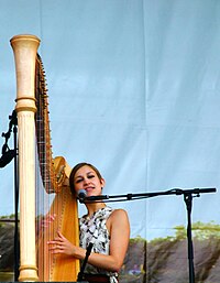
<path fill-rule="evenodd" d="M 70 167 L 65 159 L 52 157 L 48 126 L 47 90 L 41 57 L 40 40 L 34 35 L 11 39 L 16 74 L 20 187 L 20 276 L 19 281 L 76 281 L 79 261 L 53 255 L 47 241 L 57 230 L 78 244 L 77 203 L 70 194 Z M 36 145 L 37 144 L 37 145 Z M 38 154 L 36 154 L 36 152 Z M 37 155 L 37 156 L 36 156 Z M 47 214 L 56 214 L 48 228 L 36 235 L 37 165 L 44 193 L 53 194 Z"/>

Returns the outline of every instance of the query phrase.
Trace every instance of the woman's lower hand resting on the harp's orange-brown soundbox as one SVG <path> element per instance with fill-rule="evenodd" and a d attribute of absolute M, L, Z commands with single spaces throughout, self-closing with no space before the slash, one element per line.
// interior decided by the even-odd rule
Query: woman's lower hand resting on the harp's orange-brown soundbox
<path fill-rule="evenodd" d="M 54 240 L 47 242 L 50 244 L 50 251 L 54 254 L 67 254 L 75 255 L 76 246 L 74 246 L 69 240 L 67 240 L 59 231 L 57 231 L 57 237 Z"/>

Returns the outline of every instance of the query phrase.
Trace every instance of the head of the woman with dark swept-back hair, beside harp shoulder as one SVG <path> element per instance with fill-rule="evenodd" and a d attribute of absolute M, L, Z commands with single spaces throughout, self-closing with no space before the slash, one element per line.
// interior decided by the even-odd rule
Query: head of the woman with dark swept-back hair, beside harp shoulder
<path fill-rule="evenodd" d="M 97 173 L 88 165 L 80 167 L 74 176 L 74 187 L 76 194 L 80 189 L 87 192 L 87 196 L 101 195 L 101 188 L 105 186 L 105 179 L 99 178 Z"/>

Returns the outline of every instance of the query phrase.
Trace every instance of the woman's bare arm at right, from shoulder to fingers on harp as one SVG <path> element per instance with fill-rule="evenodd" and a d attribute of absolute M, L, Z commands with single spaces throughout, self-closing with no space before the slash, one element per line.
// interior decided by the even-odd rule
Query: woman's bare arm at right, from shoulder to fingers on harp
<path fill-rule="evenodd" d="M 125 210 L 116 209 L 107 220 L 107 226 L 110 232 L 110 254 L 91 252 L 88 263 L 108 271 L 118 272 L 123 264 L 130 239 L 130 225 Z M 54 241 L 48 243 L 53 244 L 50 248 L 53 253 L 65 253 L 80 260 L 86 257 L 86 249 L 74 246 L 61 232 L 57 232 Z"/>

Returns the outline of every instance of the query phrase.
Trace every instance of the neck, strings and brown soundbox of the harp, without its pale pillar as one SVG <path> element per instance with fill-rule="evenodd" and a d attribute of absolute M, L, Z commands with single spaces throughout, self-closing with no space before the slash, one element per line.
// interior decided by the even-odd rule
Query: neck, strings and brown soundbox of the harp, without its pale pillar
<path fill-rule="evenodd" d="M 37 266 L 40 281 L 76 281 L 79 261 L 66 255 L 54 255 L 48 251 L 47 241 L 62 231 L 69 240 L 78 244 L 77 203 L 69 189 L 68 175 L 70 168 L 64 157 L 53 159 L 48 117 L 48 96 L 45 72 L 37 54 L 35 74 L 36 98 L 36 149 L 38 166 L 37 202 L 38 218 L 55 216 L 47 226 L 41 227 L 37 237 Z M 41 221 L 40 221 L 41 222 Z"/>

